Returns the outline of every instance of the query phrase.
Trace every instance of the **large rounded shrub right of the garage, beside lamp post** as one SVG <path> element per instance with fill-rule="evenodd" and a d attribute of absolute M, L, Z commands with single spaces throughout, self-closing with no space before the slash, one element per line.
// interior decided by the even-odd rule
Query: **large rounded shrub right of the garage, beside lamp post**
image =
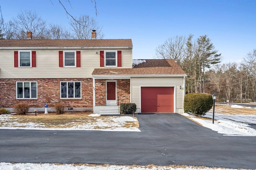
<path fill-rule="evenodd" d="M 205 115 L 212 109 L 212 95 L 206 93 L 188 93 L 184 98 L 184 112 Z"/>

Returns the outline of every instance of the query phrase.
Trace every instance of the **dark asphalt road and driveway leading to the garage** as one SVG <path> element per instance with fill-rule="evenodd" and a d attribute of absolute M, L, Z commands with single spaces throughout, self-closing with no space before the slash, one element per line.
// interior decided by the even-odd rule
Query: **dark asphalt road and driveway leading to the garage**
<path fill-rule="evenodd" d="M 0 162 L 256 168 L 256 137 L 223 136 L 178 114 L 138 114 L 141 132 L 0 129 Z"/>

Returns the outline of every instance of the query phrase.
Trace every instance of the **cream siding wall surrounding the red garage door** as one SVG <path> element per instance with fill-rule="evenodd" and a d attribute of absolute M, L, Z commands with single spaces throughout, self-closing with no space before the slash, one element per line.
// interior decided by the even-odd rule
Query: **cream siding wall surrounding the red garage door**
<path fill-rule="evenodd" d="M 174 87 L 174 112 L 183 110 L 183 77 L 131 77 L 131 103 L 140 109 L 140 87 Z"/>

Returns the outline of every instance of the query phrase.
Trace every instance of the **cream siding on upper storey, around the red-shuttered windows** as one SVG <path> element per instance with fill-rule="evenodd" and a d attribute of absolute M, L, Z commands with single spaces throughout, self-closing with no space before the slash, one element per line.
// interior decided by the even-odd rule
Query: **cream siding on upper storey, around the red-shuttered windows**
<path fill-rule="evenodd" d="M 94 69 L 100 67 L 100 51 L 112 49 L 70 49 L 81 51 L 81 67 L 59 67 L 59 51 L 62 49 L 32 49 L 36 51 L 36 67 L 14 67 L 14 51 L 0 49 L 0 78 L 90 78 Z M 122 51 L 122 67 L 132 68 L 132 49 Z M 96 53 L 97 52 L 97 53 Z M 63 58 L 64 59 L 64 58 Z"/>

